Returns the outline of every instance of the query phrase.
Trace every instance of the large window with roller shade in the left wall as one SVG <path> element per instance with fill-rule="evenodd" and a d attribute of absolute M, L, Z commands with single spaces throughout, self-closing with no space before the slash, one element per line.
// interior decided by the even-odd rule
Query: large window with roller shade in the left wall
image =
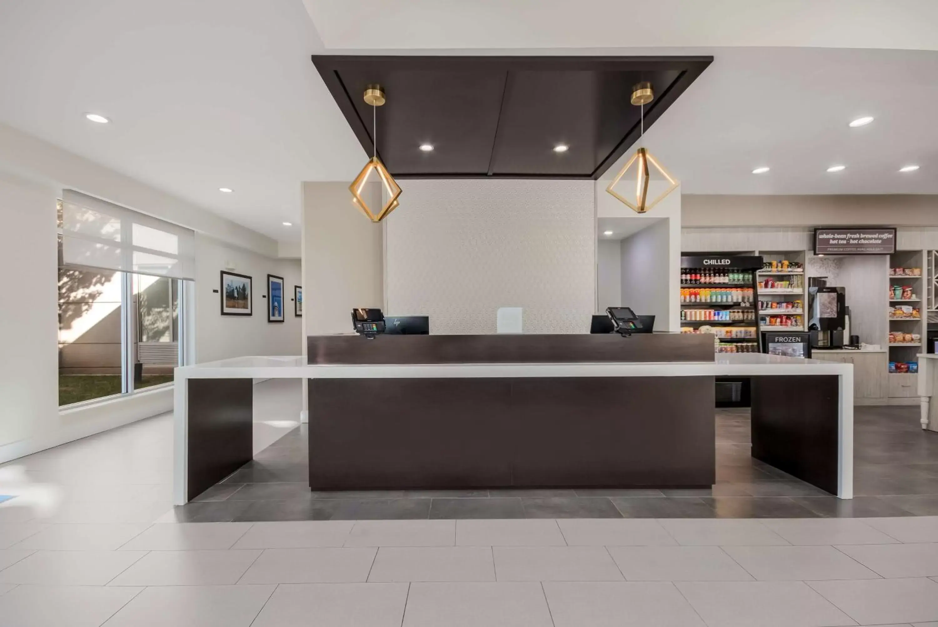
<path fill-rule="evenodd" d="M 93 229 L 98 237 L 111 233 L 108 237 L 119 241 L 115 234 L 119 223 L 109 227 L 108 220 L 99 217 L 83 223 L 83 228 Z M 59 405 L 132 394 L 172 382 L 173 368 L 183 354 L 182 280 L 67 264 L 61 201 L 58 224 Z M 140 224 L 132 228 L 138 246 L 177 254 L 174 235 Z M 107 259 L 120 257 L 119 248 L 114 249 L 116 255 L 104 256 L 100 252 L 107 252 L 108 246 L 95 248 L 98 256 L 90 260 L 95 264 L 108 265 Z M 158 275 L 167 274 L 165 268 L 176 263 L 173 258 L 140 250 L 133 251 L 133 260 L 133 269 Z"/>

